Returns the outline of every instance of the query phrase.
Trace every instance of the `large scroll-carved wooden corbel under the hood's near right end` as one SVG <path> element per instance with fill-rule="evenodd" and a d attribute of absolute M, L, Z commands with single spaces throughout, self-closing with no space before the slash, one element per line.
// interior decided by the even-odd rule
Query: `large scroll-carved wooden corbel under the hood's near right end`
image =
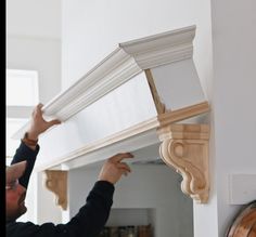
<path fill-rule="evenodd" d="M 183 177 L 181 189 L 197 203 L 209 193 L 207 124 L 169 124 L 158 129 L 163 161 Z"/>

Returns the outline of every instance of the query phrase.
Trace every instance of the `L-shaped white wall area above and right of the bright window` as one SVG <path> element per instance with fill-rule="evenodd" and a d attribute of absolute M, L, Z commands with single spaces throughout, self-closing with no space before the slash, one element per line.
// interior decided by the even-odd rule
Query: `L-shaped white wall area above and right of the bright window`
<path fill-rule="evenodd" d="M 8 36 L 7 67 L 37 70 L 39 101 L 49 102 L 61 89 L 61 40 Z"/>

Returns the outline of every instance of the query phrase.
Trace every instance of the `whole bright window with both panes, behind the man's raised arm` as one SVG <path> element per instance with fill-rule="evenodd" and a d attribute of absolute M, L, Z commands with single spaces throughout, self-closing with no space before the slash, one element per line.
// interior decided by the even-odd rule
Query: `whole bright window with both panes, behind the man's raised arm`
<path fill-rule="evenodd" d="M 38 102 L 38 71 L 7 69 L 7 163 L 20 144 L 12 135 L 30 119 Z"/>

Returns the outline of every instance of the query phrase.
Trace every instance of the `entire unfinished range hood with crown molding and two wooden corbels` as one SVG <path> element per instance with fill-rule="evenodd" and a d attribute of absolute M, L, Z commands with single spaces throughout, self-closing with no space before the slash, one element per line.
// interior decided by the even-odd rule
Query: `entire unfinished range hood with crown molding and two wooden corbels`
<path fill-rule="evenodd" d="M 66 177 L 56 181 L 57 172 L 67 174 L 152 145 L 159 146 L 163 161 L 182 175 L 182 192 L 207 202 L 209 127 L 196 116 L 209 111 L 209 105 L 193 62 L 194 36 L 195 26 L 189 26 L 120 43 L 43 106 L 46 119 L 63 123 L 41 135 L 36 170 L 47 171 L 48 187 L 62 197 L 64 209 L 66 188 L 57 188 L 57 182 L 66 185 Z M 181 122 L 189 118 L 195 119 Z"/>

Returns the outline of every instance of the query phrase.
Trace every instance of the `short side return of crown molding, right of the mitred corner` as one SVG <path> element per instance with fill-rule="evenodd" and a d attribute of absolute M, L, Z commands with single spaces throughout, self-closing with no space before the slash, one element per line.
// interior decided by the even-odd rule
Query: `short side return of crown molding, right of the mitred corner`
<path fill-rule="evenodd" d="M 119 43 L 142 69 L 192 57 L 195 26 Z"/>

